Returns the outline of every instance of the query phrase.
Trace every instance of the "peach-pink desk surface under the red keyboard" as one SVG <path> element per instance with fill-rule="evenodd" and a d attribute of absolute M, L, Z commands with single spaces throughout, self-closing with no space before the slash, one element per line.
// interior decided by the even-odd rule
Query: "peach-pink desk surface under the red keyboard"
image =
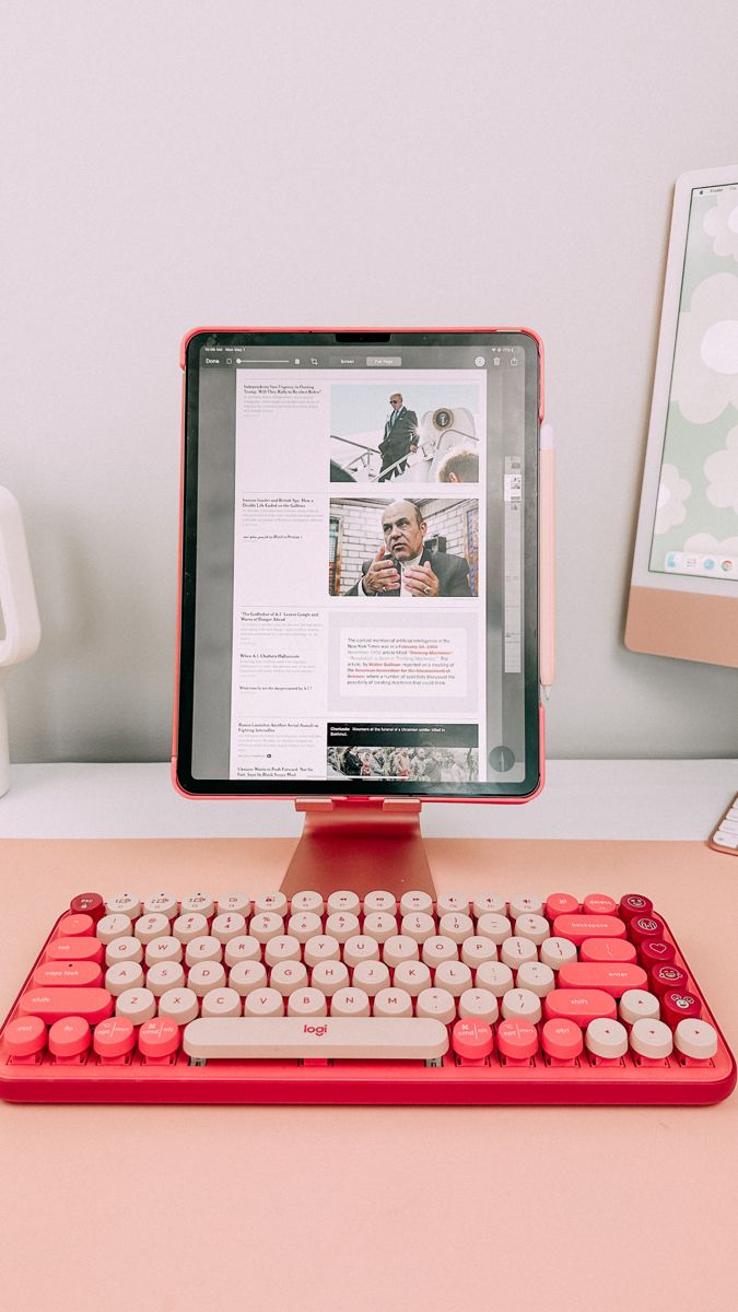
<path fill-rule="evenodd" d="M 293 848 L 1 844 L 3 1014 L 74 893 L 259 891 Z M 428 853 L 440 891 L 649 893 L 735 1050 L 735 858 L 692 842 Z M 738 1094 L 693 1110 L 1 1105 L 0 1124 L 4 1312 L 738 1305 Z"/>

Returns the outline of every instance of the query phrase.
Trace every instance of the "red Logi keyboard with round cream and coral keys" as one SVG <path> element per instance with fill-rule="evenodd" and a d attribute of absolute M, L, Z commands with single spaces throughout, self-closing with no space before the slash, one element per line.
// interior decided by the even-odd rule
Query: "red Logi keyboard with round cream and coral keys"
<path fill-rule="evenodd" d="M 0 1031 L 17 1102 L 713 1103 L 647 897 L 80 893 Z"/>

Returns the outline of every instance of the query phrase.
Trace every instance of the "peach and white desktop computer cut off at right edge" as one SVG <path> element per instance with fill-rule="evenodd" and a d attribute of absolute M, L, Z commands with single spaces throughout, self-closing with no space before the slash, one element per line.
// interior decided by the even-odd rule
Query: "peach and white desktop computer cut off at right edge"
<path fill-rule="evenodd" d="M 625 643 L 738 665 L 738 165 L 676 182 Z"/>

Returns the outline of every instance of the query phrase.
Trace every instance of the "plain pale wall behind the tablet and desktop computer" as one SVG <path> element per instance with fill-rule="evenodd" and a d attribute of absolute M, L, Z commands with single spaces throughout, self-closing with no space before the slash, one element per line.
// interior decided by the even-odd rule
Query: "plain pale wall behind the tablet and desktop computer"
<path fill-rule="evenodd" d="M 622 646 L 678 173 L 738 156 L 738 8 L 3 7 L 0 483 L 45 636 L 13 754 L 169 752 L 196 324 L 525 324 L 559 442 L 552 756 L 727 756 L 734 672 Z"/>

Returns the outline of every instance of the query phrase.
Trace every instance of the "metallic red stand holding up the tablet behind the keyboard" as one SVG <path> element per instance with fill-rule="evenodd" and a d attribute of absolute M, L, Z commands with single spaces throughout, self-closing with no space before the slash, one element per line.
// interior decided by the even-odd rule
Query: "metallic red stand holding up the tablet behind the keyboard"
<path fill-rule="evenodd" d="M 297 798 L 305 828 L 281 891 L 310 888 L 327 899 L 339 888 L 364 897 L 386 888 L 436 890 L 420 833 L 422 803 L 414 798 Z"/>

